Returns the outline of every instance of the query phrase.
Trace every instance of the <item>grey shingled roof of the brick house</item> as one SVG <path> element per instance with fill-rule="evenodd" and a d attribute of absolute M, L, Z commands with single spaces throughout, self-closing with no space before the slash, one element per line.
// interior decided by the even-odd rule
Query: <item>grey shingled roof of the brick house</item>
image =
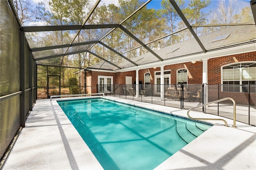
<path fill-rule="evenodd" d="M 228 35 L 228 38 L 224 40 L 214 41 L 215 38 L 221 37 L 223 35 Z M 208 49 L 208 51 L 214 51 L 218 49 L 243 45 L 247 43 L 254 43 L 256 42 L 256 27 L 254 25 L 232 26 L 232 27 L 224 28 L 222 30 L 200 36 L 199 39 L 203 44 L 205 44 L 205 47 L 206 49 Z M 194 38 L 184 42 L 176 43 L 174 45 L 170 45 L 168 47 L 164 47 L 162 49 L 158 49 L 155 51 L 155 53 L 161 56 L 163 60 L 179 58 L 184 56 L 187 57 L 189 60 L 189 57 L 192 56 L 193 54 L 202 53 L 202 55 L 204 55 L 202 49 L 196 43 L 196 40 L 194 40 Z M 140 55 L 139 57 L 132 59 L 132 61 L 136 62 L 138 65 L 142 65 L 144 63 L 148 63 L 148 61 L 155 61 L 155 60 L 156 58 L 151 53 L 145 53 L 143 55 Z M 109 64 L 104 65 L 103 63 L 104 62 L 102 61 L 100 65 L 95 64 L 88 68 L 91 68 L 91 69 L 111 68 Z M 119 67 L 125 68 L 130 63 L 128 61 L 124 61 L 122 63 L 119 63 L 119 64 L 116 63 L 116 64 Z M 112 69 L 116 69 L 116 68 L 112 67 Z"/>

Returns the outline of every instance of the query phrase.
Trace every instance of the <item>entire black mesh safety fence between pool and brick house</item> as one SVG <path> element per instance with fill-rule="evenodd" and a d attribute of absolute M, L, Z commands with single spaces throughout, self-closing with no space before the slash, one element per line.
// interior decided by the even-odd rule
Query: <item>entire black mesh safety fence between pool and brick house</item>
<path fill-rule="evenodd" d="M 238 89 L 234 85 L 228 86 L 220 84 L 206 84 L 205 86 L 204 84 L 113 84 L 97 85 L 97 93 L 180 109 L 190 109 L 204 103 L 232 97 L 236 101 L 236 120 L 256 126 L 255 85 L 240 86 L 239 92 L 226 91 L 227 88 L 229 90 L 232 88 Z M 138 91 L 136 91 L 137 88 L 139 89 Z M 162 97 L 161 88 L 164 89 Z M 199 107 L 195 110 L 233 119 L 233 103 L 229 101 L 211 104 L 202 108 Z"/>

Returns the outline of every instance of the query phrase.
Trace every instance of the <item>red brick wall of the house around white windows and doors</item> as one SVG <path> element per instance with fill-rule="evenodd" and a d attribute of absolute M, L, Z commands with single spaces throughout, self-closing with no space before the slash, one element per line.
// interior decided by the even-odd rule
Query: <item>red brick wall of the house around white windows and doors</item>
<path fill-rule="evenodd" d="M 221 83 L 221 67 L 223 65 L 241 62 L 241 61 L 256 61 L 256 51 L 250 53 L 242 53 L 237 55 L 229 55 L 225 57 L 218 57 L 208 59 L 208 84 L 220 84 Z M 202 83 L 202 61 L 197 61 L 196 63 L 186 62 L 178 63 L 173 65 L 164 66 L 164 70 L 171 71 L 171 84 L 176 84 L 176 73 L 178 69 L 188 69 L 188 84 L 201 84 Z M 144 84 L 144 73 L 150 72 L 152 79 L 150 84 L 154 84 L 154 72 L 160 71 L 160 67 L 149 68 L 149 69 L 140 69 L 139 70 L 139 81 L 142 81 Z M 136 71 L 128 72 L 119 72 L 119 73 L 108 73 L 108 72 L 99 72 L 93 71 L 91 73 L 91 82 L 92 82 L 92 91 L 91 93 L 96 93 L 98 84 L 98 75 L 102 76 L 113 76 L 114 84 L 125 84 L 125 76 L 132 76 L 132 82 L 136 81 Z M 88 84 L 87 84 L 88 85 Z M 208 88 L 208 96 L 210 101 L 215 101 L 218 99 L 218 86 Z M 219 91 L 220 99 L 224 97 L 232 97 L 236 100 L 237 103 L 248 104 L 248 94 L 246 93 L 227 93 Z M 256 94 L 251 93 L 250 102 L 255 105 L 256 103 Z"/>

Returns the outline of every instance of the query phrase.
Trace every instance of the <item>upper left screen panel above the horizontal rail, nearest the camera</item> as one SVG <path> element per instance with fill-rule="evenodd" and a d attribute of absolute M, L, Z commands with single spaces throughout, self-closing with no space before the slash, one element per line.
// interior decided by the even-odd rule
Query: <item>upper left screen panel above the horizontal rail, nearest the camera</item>
<path fill-rule="evenodd" d="M 20 35 L 8 3 L 0 5 L 0 96 L 4 96 L 20 91 Z"/>

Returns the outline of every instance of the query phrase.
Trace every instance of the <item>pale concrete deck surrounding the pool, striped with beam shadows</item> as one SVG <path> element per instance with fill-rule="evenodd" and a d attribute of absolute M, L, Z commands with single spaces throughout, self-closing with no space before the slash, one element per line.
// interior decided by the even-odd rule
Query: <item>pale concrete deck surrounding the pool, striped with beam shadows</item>
<path fill-rule="evenodd" d="M 72 97 L 82 99 L 86 97 Z M 187 110 L 142 103 L 116 97 L 104 97 L 187 117 Z M 69 98 L 62 98 L 64 100 Z M 19 169 L 103 169 L 70 123 L 56 100 L 37 100 L 3 170 Z M 184 146 L 156 169 L 256 169 L 256 127 L 233 120 L 191 111 L 192 117 L 220 118 L 214 126 Z"/>

